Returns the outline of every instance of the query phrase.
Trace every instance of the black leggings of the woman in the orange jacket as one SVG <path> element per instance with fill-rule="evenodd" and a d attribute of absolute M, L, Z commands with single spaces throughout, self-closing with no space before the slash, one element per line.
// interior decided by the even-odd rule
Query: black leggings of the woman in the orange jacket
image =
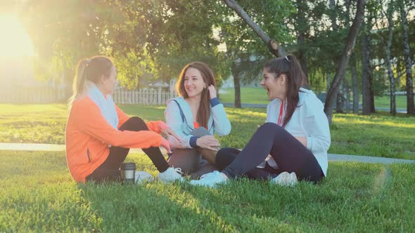
<path fill-rule="evenodd" d="M 120 126 L 120 131 L 148 131 L 148 127 L 146 122 L 144 122 L 141 118 L 138 116 L 133 116 L 125 121 L 122 126 Z M 129 148 L 110 147 L 110 154 L 108 154 L 106 161 L 104 161 L 101 166 L 98 166 L 98 168 L 96 168 L 95 171 L 91 173 L 91 175 L 87 176 L 87 181 L 120 181 L 120 166 L 127 157 L 128 152 Z M 153 161 L 153 164 L 160 173 L 166 171 L 167 168 L 169 168 L 169 164 L 167 164 L 167 161 L 162 156 L 159 147 L 150 147 L 148 149 L 143 149 L 143 152 L 148 155 L 151 161 Z"/>

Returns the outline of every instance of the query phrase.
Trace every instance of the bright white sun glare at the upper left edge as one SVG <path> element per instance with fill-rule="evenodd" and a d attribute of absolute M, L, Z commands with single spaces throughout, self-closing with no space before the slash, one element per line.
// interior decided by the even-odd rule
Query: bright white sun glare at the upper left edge
<path fill-rule="evenodd" d="M 0 15 L 0 57 L 33 56 L 29 35 L 15 15 Z"/>

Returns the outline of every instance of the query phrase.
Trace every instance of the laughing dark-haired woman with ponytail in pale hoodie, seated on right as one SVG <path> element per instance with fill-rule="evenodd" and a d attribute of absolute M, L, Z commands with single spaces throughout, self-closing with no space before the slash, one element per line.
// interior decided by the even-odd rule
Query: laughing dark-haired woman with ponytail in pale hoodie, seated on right
<path fill-rule="evenodd" d="M 300 88 L 305 74 L 293 55 L 274 58 L 263 69 L 267 89 L 267 123 L 260 126 L 242 151 L 222 148 L 214 171 L 191 180 L 192 185 L 214 187 L 247 175 L 272 178 L 272 183 L 293 185 L 297 180 L 318 182 L 327 175 L 330 131 L 321 101 Z"/>

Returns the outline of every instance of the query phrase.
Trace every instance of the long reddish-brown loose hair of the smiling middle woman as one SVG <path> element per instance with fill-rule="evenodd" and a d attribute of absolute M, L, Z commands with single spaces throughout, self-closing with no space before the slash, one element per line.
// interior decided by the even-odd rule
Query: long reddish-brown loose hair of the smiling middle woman
<path fill-rule="evenodd" d="M 181 70 L 179 80 L 176 83 L 176 91 L 179 95 L 183 96 L 183 98 L 188 98 L 189 95 L 186 93 L 186 89 L 184 88 L 184 75 L 186 74 L 187 69 L 194 68 L 198 69 L 200 74 L 202 75 L 203 81 L 205 81 L 206 86 L 216 86 L 215 84 L 215 76 L 213 75 L 212 69 L 208 67 L 203 62 L 191 62 L 184 66 Z M 200 105 L 198 109 L 197 119 L 196 121 L 200 124 L 200 126 L 204 126 L 208 128 L 208 120 L 210 116 L 210 95 L 208 88 L 203 88 L 202 95 L 200 96 Z"/>

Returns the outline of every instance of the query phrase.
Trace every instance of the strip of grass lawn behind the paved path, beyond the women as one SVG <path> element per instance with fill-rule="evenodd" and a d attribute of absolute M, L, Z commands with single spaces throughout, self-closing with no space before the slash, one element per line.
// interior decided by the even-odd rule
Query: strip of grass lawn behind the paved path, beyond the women
<path fill-rule="evenodd" d="M 162 120 L 164 107 L 120 105 L 131 116 Z M 223 147 L 242 148 L 264 123 L 261 108 L 226 108 L 230 135 L 219 138 Z M 65 105 L 0 105 L 0 142 L 65 144 Z M 404 114 L 372 116 L 334 114 L 329 152 L 374 157 L 415 159 L 415 117 Z"/>

